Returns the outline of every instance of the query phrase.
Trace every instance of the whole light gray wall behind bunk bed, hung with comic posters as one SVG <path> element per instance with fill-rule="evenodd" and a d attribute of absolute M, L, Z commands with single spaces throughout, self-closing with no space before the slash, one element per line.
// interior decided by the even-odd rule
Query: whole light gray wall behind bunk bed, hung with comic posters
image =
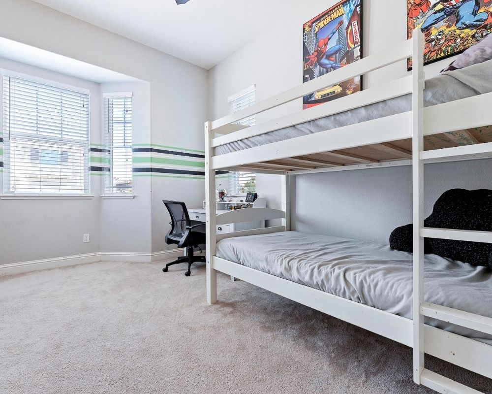
<path fill-rule="evenodd" d="M 302 25 L 338 0 L 311 0 L 261 32 L 209 71 L 210 118 L 227 114 L 227 97 L 256 84 L 260 101 L 302 83 Z M 364 56 L 406 39 L 406 1 L 364 0 Z M 425 67 L 436 75 L 451 59 Z M 369 73 L 365 87 L 408 75 L 405 61 Z M 301 109 L 295 100 L 257 116 L 257 121 Z M 427 166 L 427 206 L 451 187 L 490 188 L 490 162 Z M 280 206 L 280 182 L 275 175 L 258 175 L 258 193 L 268 206 Z M 410 167 L 302 175 L 293 179 L 293 229 L 386 241 L 396 226 L 411 221 Z"/>

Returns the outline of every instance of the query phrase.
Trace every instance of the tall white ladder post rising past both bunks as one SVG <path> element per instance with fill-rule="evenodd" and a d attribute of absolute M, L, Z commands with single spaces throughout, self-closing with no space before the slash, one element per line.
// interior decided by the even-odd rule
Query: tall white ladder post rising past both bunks
<path fill-rule="evenodd" d="M 412 94 L 412 177 L 413 177 L 413 380 L 421 383 L 424 371 L 424 316 L 420 305 L 424 302 L 424 164 L 420 153 L 424 150 L 424 35 L 413 31 L 413 94 Z"/>

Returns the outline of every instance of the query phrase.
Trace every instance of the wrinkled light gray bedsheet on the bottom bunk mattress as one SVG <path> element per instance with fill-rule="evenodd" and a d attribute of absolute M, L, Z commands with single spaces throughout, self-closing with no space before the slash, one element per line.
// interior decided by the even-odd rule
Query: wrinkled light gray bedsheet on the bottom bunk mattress
<path fill-rule="evenodd" d="M 288 231 L 223 239 L 216 256 L 412 319 L 412 254 L 385 244 Z M 492 317 L 492 273 L 426 255 L 425 300 Z M 492 344 L 485 333 L 426 323 Z"/>

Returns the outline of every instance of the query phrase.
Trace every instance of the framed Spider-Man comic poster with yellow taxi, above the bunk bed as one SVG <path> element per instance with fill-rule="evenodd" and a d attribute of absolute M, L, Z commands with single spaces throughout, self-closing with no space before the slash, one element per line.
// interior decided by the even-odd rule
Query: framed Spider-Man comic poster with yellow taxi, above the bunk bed
<path fill-rule="evenodd" d="M 343 0 L 303 25 L 303 83 L 362 57 L 361 0 Z M 303 109 L 359 92 L 362 77 L 311 93 Z"/>

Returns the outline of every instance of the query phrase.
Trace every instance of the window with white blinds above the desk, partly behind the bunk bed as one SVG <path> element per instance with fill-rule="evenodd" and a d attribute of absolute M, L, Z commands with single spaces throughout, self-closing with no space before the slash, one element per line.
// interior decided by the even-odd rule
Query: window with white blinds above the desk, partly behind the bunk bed
<path fill-rule="evenodd" d="M 253 105 L 256 100 L 255 86 L 251 86 L 229 98 L 229 113 L 234 113 Z M 240 125 L 254 126 L 255 116 L 249 116 L 236 122 Z M 253 172 L 229 172 L 229 194 L 240 195 L 254 193 L 256 189 L 256 174 Z"/>

